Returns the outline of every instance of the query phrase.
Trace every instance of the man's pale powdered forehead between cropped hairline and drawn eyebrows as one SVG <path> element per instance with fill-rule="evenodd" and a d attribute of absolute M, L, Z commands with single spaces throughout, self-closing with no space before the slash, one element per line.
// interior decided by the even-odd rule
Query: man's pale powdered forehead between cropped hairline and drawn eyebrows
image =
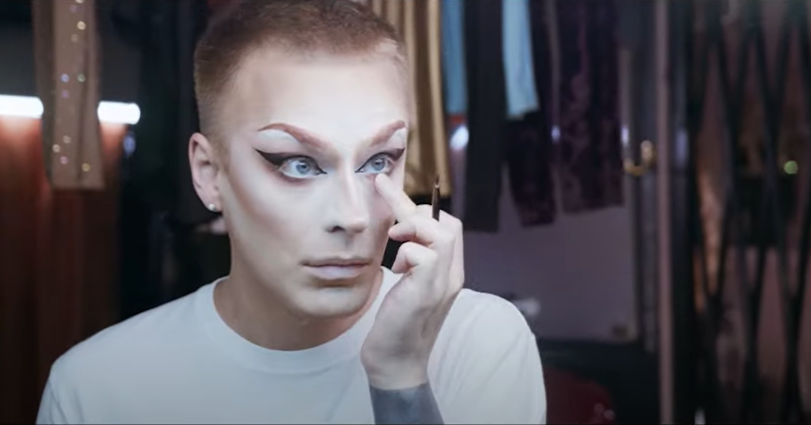
<path fill-rule="evenodd" d="M 409 122 L 405 71 L 389 54 L 260 49 L 245 58 L 230 85 L 221 109 L 230 131 L 284 122 L 325 137 L 353 138 Z"/>

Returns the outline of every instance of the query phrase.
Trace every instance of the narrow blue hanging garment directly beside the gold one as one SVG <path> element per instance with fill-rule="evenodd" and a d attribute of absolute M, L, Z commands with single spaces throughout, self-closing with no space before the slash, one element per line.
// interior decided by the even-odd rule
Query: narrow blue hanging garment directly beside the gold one
<path fill-rule="evenodd" d="M 465 3 L 442 0 L 442 79 L 445 113 L 467 112 L 467 75 L 465 74 Z"/>

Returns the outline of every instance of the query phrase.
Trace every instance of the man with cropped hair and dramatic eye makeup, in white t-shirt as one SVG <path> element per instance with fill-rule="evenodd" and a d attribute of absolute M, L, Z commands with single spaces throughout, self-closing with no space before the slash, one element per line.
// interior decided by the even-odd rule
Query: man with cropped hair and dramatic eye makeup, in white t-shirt
<path fill-rule="evenodd" d="M 214 17 L 189 159 L 230 273 L 63 354 L 37 423 L 543 423 L 526 320 L 462 289 L 461 222 L 402 190 L 406 63 L 350 0 Z"/>

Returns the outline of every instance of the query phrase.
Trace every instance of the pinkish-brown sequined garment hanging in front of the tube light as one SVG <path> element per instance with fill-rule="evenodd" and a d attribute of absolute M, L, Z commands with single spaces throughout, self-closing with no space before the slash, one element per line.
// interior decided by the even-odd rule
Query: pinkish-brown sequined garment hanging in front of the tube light
<path fill-rule="evenodd" d="M 58 189 L 103 189 L 96 2 L 32 3 L 45 173 Z"/>

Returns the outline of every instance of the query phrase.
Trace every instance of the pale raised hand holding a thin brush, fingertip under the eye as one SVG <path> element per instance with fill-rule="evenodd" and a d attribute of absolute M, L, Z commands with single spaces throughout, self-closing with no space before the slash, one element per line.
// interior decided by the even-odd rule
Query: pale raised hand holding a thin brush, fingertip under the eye
<path fill-rule="evenodd" d="M 397 224 L 388 236 L 403 242 L 392 270 L 402 278 L 380 305 L 361 359 L 374 389 L 412 389 L 427 384 L 428 357 L 465 281 L 461 221 L 447 213 L 431 218 L 384 174 L 375 187 Z"/>

